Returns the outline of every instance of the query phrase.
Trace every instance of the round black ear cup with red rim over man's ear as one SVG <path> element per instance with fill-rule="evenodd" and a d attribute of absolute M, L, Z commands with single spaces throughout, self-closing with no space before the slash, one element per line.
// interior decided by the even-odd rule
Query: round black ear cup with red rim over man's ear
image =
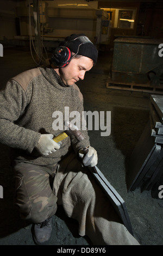
<path fill-rule="evenodd" d="M 68 65 L 71 60 L 71 51 L 66 46 L 60 46 L 55 49 L 52 55 L 52 63 L 59 68 L 63 68 Z"/>

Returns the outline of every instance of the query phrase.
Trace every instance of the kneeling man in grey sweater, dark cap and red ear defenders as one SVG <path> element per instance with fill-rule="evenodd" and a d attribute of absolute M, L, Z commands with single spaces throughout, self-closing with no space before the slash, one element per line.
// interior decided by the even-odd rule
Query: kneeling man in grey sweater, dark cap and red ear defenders
<path fill-rule="evenodd" d="M 64 131 L 53 129 L 56 113 L 65 120 L 68 107 L 82 117 L 83 96 L 75 83 L 84 79 L 97 55 L 85 35 L 73 34 L 55 50 L 49 66 L 15 76 L 0 95 L 0 140 L 14 148 L 15 205 L 21 218 L 34 223 L 37 244 L 49 240 L 57 204 L 78 220 L 79 234 L 94 245 L 139 244 L 86 168 L 97 164 L 87 131 L 82 131 L 83 141 L 73 135 L 62 143 L 53 140 Z"/>

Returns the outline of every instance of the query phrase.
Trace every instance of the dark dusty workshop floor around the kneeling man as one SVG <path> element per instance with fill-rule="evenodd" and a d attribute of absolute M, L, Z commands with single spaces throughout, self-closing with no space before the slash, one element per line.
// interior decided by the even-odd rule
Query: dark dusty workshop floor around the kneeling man
<path fill-rule="evenodd" d="M 111 52 L 100 52 L 97 65 L 78 82 L 84 96 L 85 111 L 111 111 L 111 134 L 89 131 L 92 147 L 98 153 L 98 168 L 114 186 L 127 205 L 134 236 L 141 245 L 163 245 L 163 202 L 150 191 L 137 188 L 127 193 L 128 161 L 149 119 L 149 93 L 106 88 Z M 28 49 L 4 48 L 0 63 L 1 88 L 12 76 L 35 67 Z M 32 224 L 20 220 L 13 207 L 14 180 L 10 167 L 9 148 L 0 145 L 0 245 L 35 245 Z M 53 218 L 49 245 L 90 245 L 88 237 L 78 235 L 78 223 L 67 218 L 60 207 Z"/>

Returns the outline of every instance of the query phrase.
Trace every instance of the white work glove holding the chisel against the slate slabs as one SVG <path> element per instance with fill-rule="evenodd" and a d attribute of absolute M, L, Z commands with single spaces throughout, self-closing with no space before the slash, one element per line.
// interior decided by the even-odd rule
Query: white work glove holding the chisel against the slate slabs
<path fill-rule="evenodd" d="M 85 149 L 87 153 L 85 154 Z M 85 147 L 79 150 L 79 157 L 83 160 L 84 166 L 96 166 L 97 164 L 97 151 L 92 147 Z"/>

